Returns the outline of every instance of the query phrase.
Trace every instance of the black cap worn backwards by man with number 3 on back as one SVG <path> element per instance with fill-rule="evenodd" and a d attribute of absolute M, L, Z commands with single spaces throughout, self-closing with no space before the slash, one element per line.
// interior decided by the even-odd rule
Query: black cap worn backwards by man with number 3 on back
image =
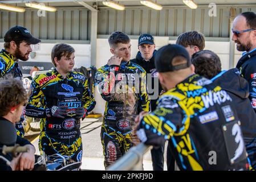
<path fill-rule="evenodd" d="M 186 63 L 173 65 L 174 57 L 182 56 L 185 58 Z M 180 45 L 168 44 L 167 46 L 161 47 L 155 56 L 155 65 L 158 72 L 172 72 L 179 69 L 185 69 L 190 67 L 191 60 L 188 51 Z"/>

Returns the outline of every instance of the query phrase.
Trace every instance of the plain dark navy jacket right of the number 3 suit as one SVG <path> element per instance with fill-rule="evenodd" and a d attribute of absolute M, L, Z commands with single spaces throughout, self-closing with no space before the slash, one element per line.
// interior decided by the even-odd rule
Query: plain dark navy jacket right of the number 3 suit
<path fill-rule="evenodd" d="M 249 155 L 251 167 L 256 168 L 256 114 L 249 100 L 249 84 L 240 76 L 237 68 L 222 71 L 211 79 L 222 89 L 229 91 L 237 116 L 241 121 L 243 140 L 245 140 L 246 151 Z"/>

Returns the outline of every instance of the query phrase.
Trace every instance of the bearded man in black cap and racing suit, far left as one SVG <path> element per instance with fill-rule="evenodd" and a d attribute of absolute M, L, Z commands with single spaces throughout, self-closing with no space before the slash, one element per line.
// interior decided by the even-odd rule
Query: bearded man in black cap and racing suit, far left
<path fill-rule="evenodd" d="M 27 61 L 29 54 L 32 51 L 30 45 L 41 42 L 34 38 L 27 28 L 15 26 L 10 28 L 4 37 L 5 49 L 0 52 L 0 78 L 20 78 L 22 79 L 22 72 L 19 69 L 18 60 Z M 23 116 L 22 116 L 23 117 Z M 16 123 L 17 134 L 24 135 L 24 129 L 20 122 Z"/>

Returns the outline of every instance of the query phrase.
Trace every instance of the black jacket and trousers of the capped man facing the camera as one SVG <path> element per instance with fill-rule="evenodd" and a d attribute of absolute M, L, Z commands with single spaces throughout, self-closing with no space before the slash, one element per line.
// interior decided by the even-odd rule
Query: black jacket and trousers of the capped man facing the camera
<path fill-rule="evenodd" d="M 139 64 L 147 72 L 147 88 L 151 104 L 151 110 L 156 109 L 156 102 L 162 91 L 161 84 L 158 78 L 158 72 L 155 67 L 156 50 L 150 60 L 146 61 L 141 56 L 140 51 L 137 52 L 136 59 L 132 59 L 133 63 Z M 152 166 L 154 171 L 164 170 L 164 145 L 159 148 L 152 148 L 151 150 Z"/>

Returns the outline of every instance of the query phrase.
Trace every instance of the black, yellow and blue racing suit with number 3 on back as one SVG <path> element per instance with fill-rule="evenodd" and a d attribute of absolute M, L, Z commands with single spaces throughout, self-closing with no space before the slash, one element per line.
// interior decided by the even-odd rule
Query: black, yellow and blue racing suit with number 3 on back
<path fill-rule="evenodd" d="M 239 125 L 228 92 L 192 75 L 160 97 L 157 109 L 141 119 L 137 136 L 153 146 L 169 140 L 181 170 L 246 170 Z"/>

